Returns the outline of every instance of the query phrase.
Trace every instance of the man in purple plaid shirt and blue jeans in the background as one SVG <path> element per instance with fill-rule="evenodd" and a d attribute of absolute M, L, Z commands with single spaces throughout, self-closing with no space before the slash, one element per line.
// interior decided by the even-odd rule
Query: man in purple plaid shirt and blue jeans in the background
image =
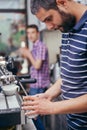
<path fill-rule="evenodd" d="M 39 30 L 34 24 L 27 26 L 28 39 L 33 43 L 32 52 L 29 48 L 21 48 L 20 53 L 31 63 L 30 75 L 37 80 L 30 84 L 30 95 L 43 93 L 49 87 L 49 59 L 46 45 L 39 40 Z M 37 130 L 45 130 L 40 117 L 33 119 Z"/>

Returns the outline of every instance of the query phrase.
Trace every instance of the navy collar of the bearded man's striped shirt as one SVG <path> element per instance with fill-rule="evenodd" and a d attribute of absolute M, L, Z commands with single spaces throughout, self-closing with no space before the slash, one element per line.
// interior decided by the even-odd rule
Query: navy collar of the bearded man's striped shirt
<path fill-rule="evenodd" d="M 85 23 L 85 21 L 87 21 L 87 11 L 85 11 L 83 16 L 79 20 L 79 22 L 74 26 L 73 30 L 77 30 L 78 31 L 80 28 L 82 28 L 82 26 Z"/>

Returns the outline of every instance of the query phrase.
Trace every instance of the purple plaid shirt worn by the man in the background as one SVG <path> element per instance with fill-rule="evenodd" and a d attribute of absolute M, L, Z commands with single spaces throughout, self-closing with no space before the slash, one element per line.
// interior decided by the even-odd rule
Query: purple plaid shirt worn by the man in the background
<path fill-rule="evenodd" d="M 50 78 L 49 78 L 49 58 L 48 50 L 41 41 L 37 41 L 33 45 L 32 55 L 35 60 L 42 60 L 42 66 L 39 70 L 36 70 L 34 66 L 30 68 L 30 74 L 32 78 L 37 79 L 37 83 L 30 84 L 30 87 L 33 88 L 45 88 L 49 87 Z"/>

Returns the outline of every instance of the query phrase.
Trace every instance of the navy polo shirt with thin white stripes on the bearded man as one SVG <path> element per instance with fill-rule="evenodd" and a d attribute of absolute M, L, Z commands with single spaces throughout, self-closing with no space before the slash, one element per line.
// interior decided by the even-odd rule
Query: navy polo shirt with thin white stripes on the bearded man
<path fill-rule="evenodd" d="M 62 36 L 61 78 L 65 100 L 87 94 L 87 11 L 69 32 Z M 87 130 L 87 113 L 68 114 L 70 130 Z"/>

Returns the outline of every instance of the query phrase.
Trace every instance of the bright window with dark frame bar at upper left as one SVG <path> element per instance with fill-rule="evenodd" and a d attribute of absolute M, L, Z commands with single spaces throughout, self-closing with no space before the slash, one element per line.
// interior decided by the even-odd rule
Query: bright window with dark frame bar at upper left
<path fill-rule="evenodd" d="M 0 53 L 9 55 L 26 40 L 27 0 L 0 0 Z"/>

